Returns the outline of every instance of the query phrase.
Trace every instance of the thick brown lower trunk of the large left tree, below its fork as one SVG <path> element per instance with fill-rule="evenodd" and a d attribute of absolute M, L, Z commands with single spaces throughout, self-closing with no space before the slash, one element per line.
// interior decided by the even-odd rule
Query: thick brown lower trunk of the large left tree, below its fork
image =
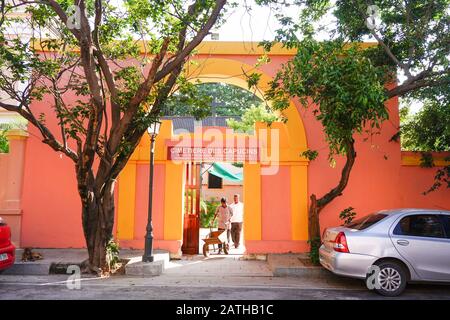
<path fill-rule="evenodd" d="M 89 186 L 88 190 L 93 190 Z M 114 225 L 114 185 L 109 183 L 104 192 L 89 191 L 82 197 L 82 222 L 89 254 L 88 268 L 100 274 L 107 270 L 106 246 L 112 238 Z"/>

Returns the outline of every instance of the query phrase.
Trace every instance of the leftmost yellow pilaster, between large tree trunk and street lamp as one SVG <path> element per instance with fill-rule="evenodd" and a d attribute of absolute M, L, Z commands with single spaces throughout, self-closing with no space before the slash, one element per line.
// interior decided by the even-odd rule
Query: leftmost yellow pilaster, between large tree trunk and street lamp
<path fill-rule="evenodd" d="M 136 205 L 136 163 L 128 163 L 119 176 L 119 202 L 117 209 L 117 238 L 134 238 Z"/>

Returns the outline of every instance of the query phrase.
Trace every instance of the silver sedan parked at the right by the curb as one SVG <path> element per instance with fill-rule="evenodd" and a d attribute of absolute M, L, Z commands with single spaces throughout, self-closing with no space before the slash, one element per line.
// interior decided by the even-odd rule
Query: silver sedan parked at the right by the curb
<path fill-rule="evenodd" d="M 327 228 L 322 241 L 322 266 L 385 296 L 401 294 L 407 282 L 450 282 L 450 211 L 379 211 Z"/>

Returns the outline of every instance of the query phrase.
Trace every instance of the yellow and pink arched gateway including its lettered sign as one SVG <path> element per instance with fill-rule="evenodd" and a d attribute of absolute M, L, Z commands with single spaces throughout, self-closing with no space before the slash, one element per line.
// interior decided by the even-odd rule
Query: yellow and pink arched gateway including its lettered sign
<path fill-rule="evenodd" d="M 222 44 L 223 45 L 223 44 Z M 191 67 L 192 81 L 223 82 L 247 88 L 249 64 L 226 54 L 199 55 Z M 222 50 L 222 52 L 221 52 Z M 201 48 L 205 52 L 205 48 Z M 245 50 L 242 50 L 245 52 Z M 256 54 L 247 51 L 248 56 Z M 217 58 L 217 56 L 220 56 Z M 239 52 L 243 56 L 243 52 Z M 244 55 L 245 57 L 245 55 Z M 272 78 L 263 73 L 260 97 Z M 183 244 L 186 164 L 244 163 L 244 239 L 248 254 L 301 252 L 307 245 L 307 149 L 305 129 L 293 103 L 283 112 L 286 123 L 257 123 L 253 134 L 217 127 L 174 133 L 164 120 L 155 142 L 153 195 L 154 247 L 179 255 Z M 142 247 L 147 219 L 150 139 L 144 136 L 119 177 L 117 238 L 121 246 Z M 195 155 L 193 155 L 195 154 Z M 203 155 L 203 156 L 202 156 Z M 184 237 L 186 241 L 186 237 Z M 185 244 L 186 245 L 186 244 Z"/>

